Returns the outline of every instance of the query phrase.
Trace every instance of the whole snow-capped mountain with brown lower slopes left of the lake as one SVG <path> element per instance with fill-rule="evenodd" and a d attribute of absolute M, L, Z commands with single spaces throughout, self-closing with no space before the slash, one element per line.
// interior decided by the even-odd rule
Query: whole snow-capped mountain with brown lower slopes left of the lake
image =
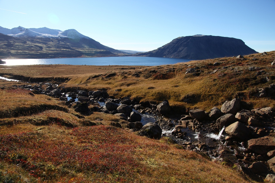
<path fill-rule="evenodd" d="M 2 34 L 1 34 L 2 33 Z M 75 29 L 0 27 L 0 59 L 125 56 Z"/>

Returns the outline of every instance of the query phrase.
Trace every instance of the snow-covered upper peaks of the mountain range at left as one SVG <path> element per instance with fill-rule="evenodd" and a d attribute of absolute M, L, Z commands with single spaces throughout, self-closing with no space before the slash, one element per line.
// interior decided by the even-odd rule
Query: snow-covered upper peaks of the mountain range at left
<path fill-rule="evenodd" d="M 25 29 L 24 27 L 16 27 L 12 29 L 7 29 L 0 27 L 0 33 L 6 34 L 13 37 L 38 37 L 38 38 L 71 38 L 71 39 L 80 39 L 86 38 L 91 39 L 83 34 L 80 34 L 75 29 L 68 29 L 65 31 L 57 29 L 49 29 L 47 27 L 42 28 L 29 28 Z"/>

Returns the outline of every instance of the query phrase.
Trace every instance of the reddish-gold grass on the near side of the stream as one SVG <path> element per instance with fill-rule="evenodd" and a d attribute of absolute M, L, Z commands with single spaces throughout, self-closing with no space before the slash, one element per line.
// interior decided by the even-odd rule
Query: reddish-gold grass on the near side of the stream
<path fill-rule="evenodd" d="M 9 82 L 6 82 L 8 85 Z M 5 88 L 5 110 L 60 101 Z M 30 100 L 28 102 L 28 100 Z M 27 102 L 27 103 L 26 103 Z M 149 139 L 117 116 L 44 110 L 0 119 L 0 181 L 9 182 L 250 182 L 236 169 L 183 150 L 169 138 Z M 97 125 L 87 126 L 94 122 Z M 123 128 L 112 127 L 119 122 Z"/>

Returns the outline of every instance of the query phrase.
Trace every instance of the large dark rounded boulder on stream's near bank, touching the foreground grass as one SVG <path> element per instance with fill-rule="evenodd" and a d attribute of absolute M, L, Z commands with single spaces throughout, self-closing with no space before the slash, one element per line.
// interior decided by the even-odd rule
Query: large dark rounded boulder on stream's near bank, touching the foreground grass
<path fill-rule="evenodd" d="M 162 130 L 156 123 L 147 123 L 141 128 L 141 130 L 138 132 L 138 135 L 160 139 Z"/>

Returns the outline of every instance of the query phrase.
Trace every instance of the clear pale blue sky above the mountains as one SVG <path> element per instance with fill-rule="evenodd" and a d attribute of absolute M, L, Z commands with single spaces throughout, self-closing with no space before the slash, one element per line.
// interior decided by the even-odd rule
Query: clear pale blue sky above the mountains
<path fill-rule="evenodd" d="M 204 34 L 275 50 L 275 0 L 0 0 L 0 14 L 5 28 L 76 29 L 115 49 L 150 51 Z"/>

